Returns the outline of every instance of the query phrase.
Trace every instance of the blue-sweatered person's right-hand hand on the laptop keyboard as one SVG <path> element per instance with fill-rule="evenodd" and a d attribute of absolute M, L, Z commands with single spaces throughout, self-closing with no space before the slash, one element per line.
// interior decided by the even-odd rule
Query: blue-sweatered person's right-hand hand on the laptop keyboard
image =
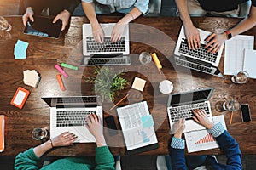
<path fill-rule="evenodd" d="M 193 116 L 193 119 L 195 122 L 198 122 L 204 127 L 207 127 L 207 129 L 210 129 L 213 127 L 213 123 L 209 121 L 207 117 L 207 113 L 204 110 L 195 109 L 193 110 L 195 116 Z"/>

